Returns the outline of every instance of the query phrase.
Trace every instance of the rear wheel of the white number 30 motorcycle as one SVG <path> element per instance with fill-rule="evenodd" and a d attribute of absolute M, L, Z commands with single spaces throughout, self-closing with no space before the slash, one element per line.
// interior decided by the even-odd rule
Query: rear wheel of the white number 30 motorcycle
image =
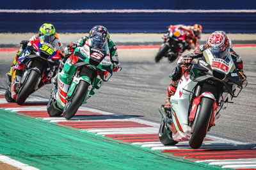
<path fill-rule="evenodd" d="M 172 131 L 166 129 L 165 122 L 163 120 L 159 127 L 158 137 L 160 142 L 166 146 L 173 146 L 178 143 L 172 139 Z"/>

